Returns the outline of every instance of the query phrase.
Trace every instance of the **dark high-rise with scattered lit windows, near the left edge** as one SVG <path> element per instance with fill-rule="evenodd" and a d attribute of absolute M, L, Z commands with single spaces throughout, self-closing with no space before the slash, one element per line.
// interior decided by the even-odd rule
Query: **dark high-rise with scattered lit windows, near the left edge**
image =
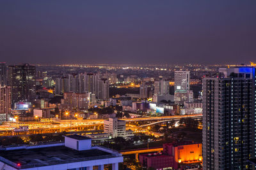
<path fill-rule="evenodd" d="M 35 99 L 36 67 L 29 64 L 8 66 L 8 86 L 12 87 L 12 100 Z"/>

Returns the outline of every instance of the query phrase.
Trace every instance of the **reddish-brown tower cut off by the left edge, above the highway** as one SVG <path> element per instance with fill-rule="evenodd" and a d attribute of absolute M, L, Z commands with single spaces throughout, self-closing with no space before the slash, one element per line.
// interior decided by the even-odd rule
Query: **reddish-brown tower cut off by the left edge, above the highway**
<path fill-rule="evenodd" d="M 11 113 L 12 107 L 12 93 L 11 87 L 0 87 L 0 113 L 7 115 Z"/>

